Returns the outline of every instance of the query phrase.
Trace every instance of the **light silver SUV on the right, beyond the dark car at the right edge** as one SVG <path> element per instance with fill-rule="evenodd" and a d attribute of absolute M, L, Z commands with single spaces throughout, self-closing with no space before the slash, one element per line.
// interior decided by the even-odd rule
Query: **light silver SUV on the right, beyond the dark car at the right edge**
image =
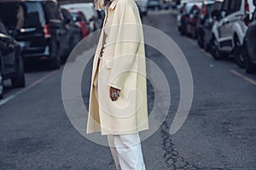
<path fill-rule="evenodd" d="M 214 59 L 241 54 L 241 44 L 247 31 L 241 16 L 252 14 L 253 10 L 253 0 L 224 0 L 220 11 L 212 11 L 216 18 L 211 42 Z"/>

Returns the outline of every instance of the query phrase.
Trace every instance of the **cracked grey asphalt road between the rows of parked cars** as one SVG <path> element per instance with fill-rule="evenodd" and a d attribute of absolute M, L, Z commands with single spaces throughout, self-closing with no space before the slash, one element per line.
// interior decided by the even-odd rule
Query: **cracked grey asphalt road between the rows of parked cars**
<path fill-rule="evenodd" d="M 169 12 L 149 13 L 143 23 L 164 31 L 177 43 L 189 62 L 194 99 L 183 127 L 168 133 L 179 102 L 179 83 L 172 65 L 149 46 L 147 57 L 164 72 L 172 94 L 166 121 L 143 141 L 148 170 L 256 169 L 256 75 L 247 75 L 232 59 L 215 61 L 181 37 Z M 88 106 L 90 66 L 84 71 L 81 91 Z M 67 118 L 61 99 L 61 76 L 35 66 L 26 73 L 26 88 L 9 88 L 0 100 L 0 169 L 112 170 L 106 146 L 85 139 Z M 148 68 L 148 74 L 154 74 Z M 148 108 L 154 104 L 148 81 Z M 165 102 L 165 101 L 163 101 Z"/>

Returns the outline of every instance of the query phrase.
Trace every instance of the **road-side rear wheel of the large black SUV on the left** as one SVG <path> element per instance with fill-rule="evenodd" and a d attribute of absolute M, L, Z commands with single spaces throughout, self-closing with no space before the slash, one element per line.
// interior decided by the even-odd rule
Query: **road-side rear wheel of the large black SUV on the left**
<path fill-rule="evenodd" d="M 61 67 L 61 56 L 58 54 L 57 42 L 51 41 L 51 59 L 49 60 L 50 69 L 59 69 Z"/>

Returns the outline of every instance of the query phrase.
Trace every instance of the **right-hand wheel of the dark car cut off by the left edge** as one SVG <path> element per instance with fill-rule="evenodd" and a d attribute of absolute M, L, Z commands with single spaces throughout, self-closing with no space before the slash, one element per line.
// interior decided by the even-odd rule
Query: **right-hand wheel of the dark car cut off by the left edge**
<path fill-rule="evenodd" d="M 25 73 L 23 60 L 19 59 L 18 70 L 15 73 L 15 77 L 11 78 L 12 86 L 14 88 L 24 88 L 25 87 Z"/>

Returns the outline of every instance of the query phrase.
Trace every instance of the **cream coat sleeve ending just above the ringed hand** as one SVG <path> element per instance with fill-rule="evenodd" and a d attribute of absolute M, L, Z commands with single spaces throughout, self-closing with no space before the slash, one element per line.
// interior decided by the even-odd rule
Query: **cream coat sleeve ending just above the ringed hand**
<path fill-rule="evenodd" d="M 114 53 L 108 85 L 122 89 L 131 71 L 137 71 L 138 49 L 143 31 L 137 6 L 129 0 L 119 1 L 115 9 L 119 24 L 111 27 Z"/>

